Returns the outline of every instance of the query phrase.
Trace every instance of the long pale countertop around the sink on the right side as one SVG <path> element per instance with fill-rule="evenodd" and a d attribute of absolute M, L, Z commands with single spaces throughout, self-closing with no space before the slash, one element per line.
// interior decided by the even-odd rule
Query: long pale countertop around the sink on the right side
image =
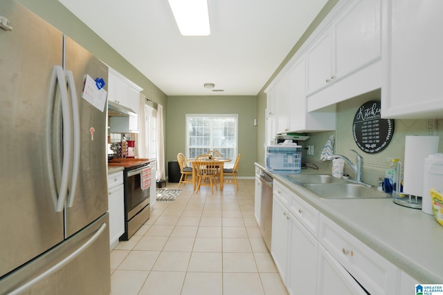
<path fill-rule="evenodd" d="M 443 283 L 443 227 L 434 216 L 394 204 L 392 198 L 321 199 L 282 175 L 271 175 L 419 283 Z"/>

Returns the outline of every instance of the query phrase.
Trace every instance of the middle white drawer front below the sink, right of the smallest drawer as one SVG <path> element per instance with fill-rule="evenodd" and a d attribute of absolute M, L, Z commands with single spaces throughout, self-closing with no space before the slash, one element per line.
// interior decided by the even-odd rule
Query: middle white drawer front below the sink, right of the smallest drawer
<path fill-rule="evenodd" d="M 289 210 L 302 225 L 312 234 L 317 237 L 318 233 L 318 211 L 310 204 L 302 200 L 295 193 L 290 192 L 289 198 L 291 200 Z"/>

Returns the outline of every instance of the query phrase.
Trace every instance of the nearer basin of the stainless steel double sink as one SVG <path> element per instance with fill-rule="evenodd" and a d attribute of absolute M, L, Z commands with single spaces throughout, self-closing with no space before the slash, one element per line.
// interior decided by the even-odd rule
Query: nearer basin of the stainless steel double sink
<path fill-rule="evenodd" d="M 304 187 L 323 199 L 372 199 L 390 198 L 390 195 L 362 184 L 354 183 L 308 183 Z"/>

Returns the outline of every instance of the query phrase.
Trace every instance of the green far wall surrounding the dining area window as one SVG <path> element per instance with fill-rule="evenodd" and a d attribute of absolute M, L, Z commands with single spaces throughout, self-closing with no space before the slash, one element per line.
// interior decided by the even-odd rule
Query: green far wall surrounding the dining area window
<path fill-rule="evenodd" d="M 165 162 L 177 160 L 186 150 L 186 114 L 238 114 L 238 153 L 242 155 L 239 177 L 253 177 L 257 144 L 257 97 L 168 96 Z"/>

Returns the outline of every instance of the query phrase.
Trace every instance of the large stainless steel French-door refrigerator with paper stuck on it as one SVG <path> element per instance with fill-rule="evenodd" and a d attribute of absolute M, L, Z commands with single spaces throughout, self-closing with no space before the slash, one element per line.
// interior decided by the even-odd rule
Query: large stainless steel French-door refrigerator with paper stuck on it
<path fill-rule="evenodd" d="M 87 75 L 107 66 L 0 2 L 0 294 L 111 291 L 106 110 Z"/>

